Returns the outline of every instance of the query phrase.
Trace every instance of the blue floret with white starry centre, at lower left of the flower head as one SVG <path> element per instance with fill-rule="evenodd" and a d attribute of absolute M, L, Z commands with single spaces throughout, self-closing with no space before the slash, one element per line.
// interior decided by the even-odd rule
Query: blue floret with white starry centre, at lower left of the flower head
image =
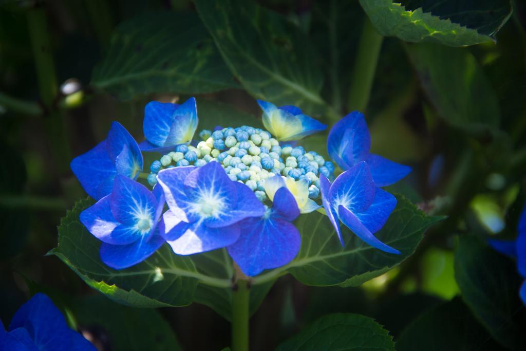
<path fill-rule="evenodd" d="M 101 240 L 100 258 L 106 265 L 123 269 L 143 261 L 165 242 L 161 218 L 163 190 L 153 193 L 123 176 L 115 178 L 111 194 L 80 213 L 80 222 Z"/>

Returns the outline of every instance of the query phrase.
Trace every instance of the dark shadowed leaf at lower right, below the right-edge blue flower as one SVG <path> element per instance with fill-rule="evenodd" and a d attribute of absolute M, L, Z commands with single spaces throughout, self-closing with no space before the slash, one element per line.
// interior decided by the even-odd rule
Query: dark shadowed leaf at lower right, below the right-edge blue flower
<path fill-rule="evenodd" d="M 502 345 L 526 348 L 526 313 L 515 263 L 475 237 L 463 236 L 455 253 L 455 277 L 464 302 Z"/>

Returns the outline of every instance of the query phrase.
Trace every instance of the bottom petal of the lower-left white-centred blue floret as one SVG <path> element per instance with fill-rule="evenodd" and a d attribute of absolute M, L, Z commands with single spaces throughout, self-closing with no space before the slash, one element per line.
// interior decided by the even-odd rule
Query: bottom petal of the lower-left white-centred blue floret
<path fill-rule="evenodd" d="M 159 222 L 156 233 L 151 237 L 143 236 L 133 244 L 112 245 L 103 243 L 100 245 L 100 259 L 109 267 L 124 269 L 143 262 L 156 250 L 163 246 L 165 239 L 158 235 L 164 233 L 164 224 Z"/>

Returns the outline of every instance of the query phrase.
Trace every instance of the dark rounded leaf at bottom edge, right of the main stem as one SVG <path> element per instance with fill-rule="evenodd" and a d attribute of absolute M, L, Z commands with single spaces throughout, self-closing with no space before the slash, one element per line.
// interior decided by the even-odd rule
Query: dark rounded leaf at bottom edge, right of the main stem
<path fill-rule="evenodd" d="M 374 319 L 350 314 L 326 315 L 279 345 L 286 350 L 394 350 L 392 336 Z"/>

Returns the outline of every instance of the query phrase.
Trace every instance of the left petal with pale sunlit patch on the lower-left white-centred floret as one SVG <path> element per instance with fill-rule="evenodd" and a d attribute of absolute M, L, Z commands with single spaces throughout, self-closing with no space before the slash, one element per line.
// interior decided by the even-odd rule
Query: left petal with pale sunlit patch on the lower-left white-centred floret
<path fill-rule="evenodd" d="M 110 197 L 107 195 L 95 205 L 80 213 L 80 222 L 96 238 L 108 244 L 127 245 L 135 242 L 140 233 L 120 224 L 112 214 Z"/>

